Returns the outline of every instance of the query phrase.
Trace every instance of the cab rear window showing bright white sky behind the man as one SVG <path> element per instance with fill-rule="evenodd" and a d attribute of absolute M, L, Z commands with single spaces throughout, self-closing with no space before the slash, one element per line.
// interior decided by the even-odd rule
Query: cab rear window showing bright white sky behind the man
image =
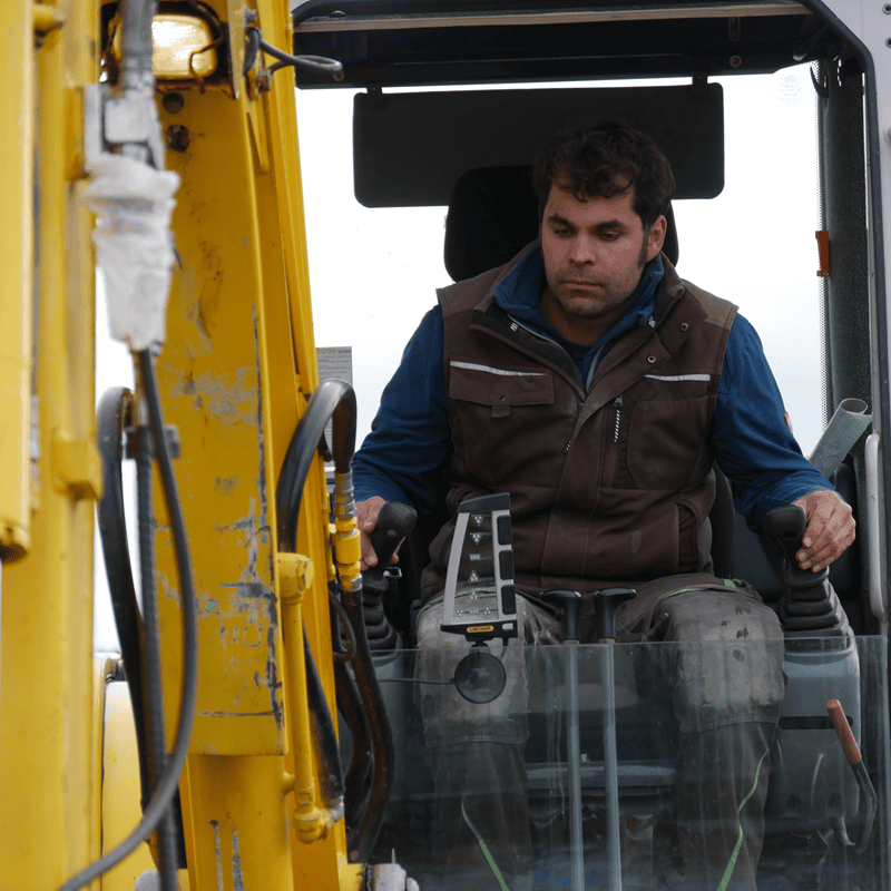
<path fill-rule="evenodd" d="M 724 190 L 714 199 L 674 204 L 678 273 L 737 304 L 755 326 L 805 454 L 822 432 L 824 412 L 810 70 L 717 78 L 724 89 Z M 572 86 L 598 85 L 567 88 Z M 435 288 L 451 280 L 442 260 L 444 207 L 370 209 L 356 202 L 353 96 L 298 90 L 297 121 L 316 345 L 352 350 L 361 442 L 407 341 L 435 304 Z M 542 141 L 548 136 L 542 133 Z M 342 366 L 337 373 L 343 376 Z"/>

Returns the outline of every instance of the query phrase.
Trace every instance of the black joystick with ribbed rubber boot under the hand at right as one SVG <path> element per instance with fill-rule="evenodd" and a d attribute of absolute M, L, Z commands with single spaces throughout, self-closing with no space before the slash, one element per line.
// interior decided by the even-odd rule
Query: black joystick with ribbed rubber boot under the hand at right
<path fill-rule="evenodd" d="M 767 530 L 779 542 L 783 561 L 783 599 L 780 621 L 786 637 L 846 637 L 851 634 L 848 617 L 829 581 L 829 567 L 817 572 L 802 569 L 796 554 L 807 526 L 801 505 L 775 508 L 764 518 Z"/>

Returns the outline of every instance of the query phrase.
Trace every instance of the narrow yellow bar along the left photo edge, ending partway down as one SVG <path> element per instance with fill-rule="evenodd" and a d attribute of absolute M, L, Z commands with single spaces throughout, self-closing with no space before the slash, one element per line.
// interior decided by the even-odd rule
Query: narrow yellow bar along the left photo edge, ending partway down
<path fill-rule="evenodd" d="M 7 135 L 0 221 L 0 559 L 29 546 L 33 268 L 33 33 L 29 3 L 8 3 L 0 29 L 0 133 Z"/>

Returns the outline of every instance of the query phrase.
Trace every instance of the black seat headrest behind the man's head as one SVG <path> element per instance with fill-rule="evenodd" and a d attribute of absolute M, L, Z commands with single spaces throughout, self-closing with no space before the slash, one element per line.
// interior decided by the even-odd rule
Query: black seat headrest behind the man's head
<path fill-rule="evenodd" d="M 663 252 L 677 263 L 678 245 L 672 207 Z M 446 271 L 452 280 L 500 266 L 538 237 L 538 197 L 532 170 L 478 167 L 456 183 L 446 216 Z"/>

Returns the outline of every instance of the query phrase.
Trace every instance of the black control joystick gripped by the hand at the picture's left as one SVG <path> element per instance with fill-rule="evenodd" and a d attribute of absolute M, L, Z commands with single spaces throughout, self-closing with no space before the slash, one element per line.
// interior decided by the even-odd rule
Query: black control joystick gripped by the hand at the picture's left
<path fill-rule="evenodd" d="M 371 533 L 371 544 L 378 556 L 378 565 L 362 574 L 362 614 L 365 634 L 373 650 L 393 649 L 396 633 L 384 613 L 383 599 L 396 577 L 390 569 L 390 558 L 403 539 L 414 529 L 418 511 L 399 501 L 386 501 L 378 512 L 378 525 Z"/>

